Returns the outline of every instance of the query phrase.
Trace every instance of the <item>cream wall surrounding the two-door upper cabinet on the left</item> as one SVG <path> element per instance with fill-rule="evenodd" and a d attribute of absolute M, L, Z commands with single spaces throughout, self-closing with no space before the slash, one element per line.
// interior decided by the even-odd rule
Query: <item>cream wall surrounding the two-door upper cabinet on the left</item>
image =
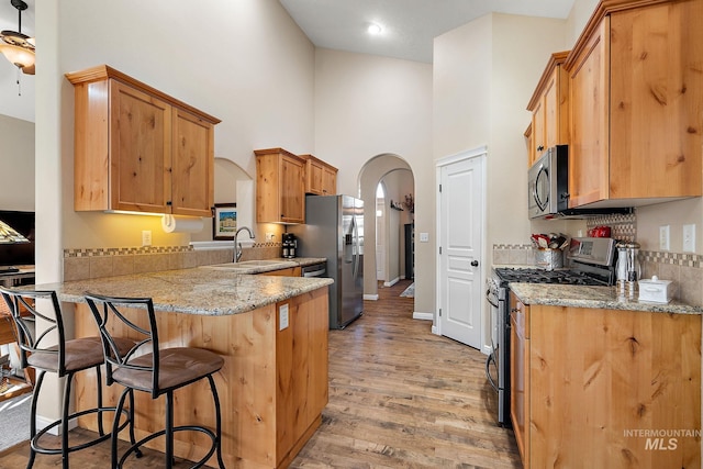
<path fill-rule="evenodd" d="M 69 0 L 57 21 L 60 75 L 109 64 L 220 118 L 215 157 L 247 174 L 255 174 L 255 148 L 313 149 L 314 47 L 278 2 L 211 9 L 190 0 Z M 72 87 L 65 78 L 58 99 L 64 247 L 138 246 L 142 230 L 153 230 L 155 245 L 187 244 L 189 235 L 164 233 L 159 219 L 74 212 Z"/>

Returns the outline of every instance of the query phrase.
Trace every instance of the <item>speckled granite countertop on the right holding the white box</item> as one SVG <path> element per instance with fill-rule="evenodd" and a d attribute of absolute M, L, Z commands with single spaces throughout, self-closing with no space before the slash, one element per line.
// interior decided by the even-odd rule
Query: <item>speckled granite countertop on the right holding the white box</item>
<path fill-rule="evenodd" d="M 703 314 L 703 308 L 677 301 L 645 303 L 618 297 L 615 287 L 583 287 L 554 283 L 509 283 L 511 291 L 525 304 L 550 306 L 596 308 L 655 313 Z"/>

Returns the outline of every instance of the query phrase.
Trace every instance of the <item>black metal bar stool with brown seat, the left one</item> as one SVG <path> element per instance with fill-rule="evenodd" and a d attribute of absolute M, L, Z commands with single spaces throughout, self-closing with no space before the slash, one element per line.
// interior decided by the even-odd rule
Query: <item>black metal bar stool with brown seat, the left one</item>
<path fill-rule="evenodd" d="M 100 367 L 104 362 L 104 357 L 100 337 L 83 337 L 66 340 L 62 310 L 56 292 L 54 291 L 9 290 L 0 287 L 0 293 L 2 293 L 4 301 L 8 303 L 16 326 L 21 366 L 22 368 L 32 367 L 38 371 L 32 394 L 30 412 L 30 460 L 26 467 L 27 469 L 32 468 L 36 454 L 43 454 L 62 455 L 63 467 L 64 469 L 68 469 L 68 455 L 70 453 L 104 442 L 111 435 L 103 431 L 102 417 L 103 413 L 115 412 L 116 407 L 105 407 L 102 405 L 102 373 Z M 37 320 L 43 321 L 41 327 L 46 326 L 41 333 L 35 327 Z M 114 344 L 115 347 L 121 350 L 129 350 L 134 345 L 133 342 L 120 337 L 114 338 Z M 69 413 L 74 375 L 90 368 L 96 369 L 98 406 Z M 54 421 L 37 432 L 36 402 L 42 389 L 42 383 L 44 382 L 44 375 L 47 371 L 57 373 L 59 377 L 65 377 L 62 418 Z M 114 427 L 119 431 L 123 429 L 127 424 L 130 425 L 132 442 L 134 442 L 134 428 L 132 425 L 134 422 L 134 414 L 132 413 L 133 402 L 134 394 L 130 395 L 130 410 L 121 410 L 119 413 L 115 413 L 113 421 Z M 81 415 L 93 413 L 98 414 L 98 437 L 90 442 L 69 446 L 69 422 Z M 120 423 L 121 418 L 119 418 L 118 415 L 125 415 L 126 420 Z M 42 436 L 57 426 L 60 426 L 60 448 L 42 446 L 40 443 Z"/>

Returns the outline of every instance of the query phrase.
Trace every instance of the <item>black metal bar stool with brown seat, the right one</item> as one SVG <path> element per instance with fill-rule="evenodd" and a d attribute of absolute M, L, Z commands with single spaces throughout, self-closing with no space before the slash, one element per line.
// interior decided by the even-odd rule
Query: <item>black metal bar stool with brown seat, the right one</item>
<path fill-rule="evenodd" d="M 103 297 L 87 292 L 86 300 L 90 305 L 100 334 L 102 336 L 103 351 L 107 366 L 107 382 L 111 386 L 118 382 L 125 387 L 118 402 L 118 409 L 122 410 L 125 395 L 133 389 L 148 392 L 152 399 L 166 397 L 166 425 L 165 428 L 153 433 L 133 444 L 118 461 L 118 429 L 112 433 L 112 467 L 122 468 L 122 465 L 132 453 L 140 451 L 140 446 L 154 438 L 165 436 L 166 439 L 166 468 L 174 464 L 174 433 L 182 431 L 201 432 L 212 439 L 212 446 L 208 454 L 192 468 L 202 467 L 216 451 L 217 464 L 224 469 L 222 461 L 222 422 L 220 414 L 220 398 L 212 375 L 220 371 L 224 359 L 210 350 L 194 347 L 159 348 L 158 331 L 154 303 L 150 298 L 115 298 Z M 126 317 L 119 308 L 145 309 L 146 326 Z M 123 328 L 130 331 L 130 336 L 137 337 L 135 346 L 127 353 L 122 353 L 115 347 L 115 338 L 111 330 Z M 125 332 L 126 334 L 126 332 Z M 174 391 L 207 378 L 210 382 L 212 398 L 215 404 L 216 428 L 205 426 L 180 425 L 174 426 Z"/>

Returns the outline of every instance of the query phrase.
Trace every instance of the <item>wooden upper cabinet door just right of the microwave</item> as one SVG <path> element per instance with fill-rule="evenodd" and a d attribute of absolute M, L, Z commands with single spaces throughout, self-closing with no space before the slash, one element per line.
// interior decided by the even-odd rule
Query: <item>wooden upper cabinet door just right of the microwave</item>
<path fill-rule="evenodd" d="M 570 69 L 569 206 L 607 199 L 610 18 Z"/>

